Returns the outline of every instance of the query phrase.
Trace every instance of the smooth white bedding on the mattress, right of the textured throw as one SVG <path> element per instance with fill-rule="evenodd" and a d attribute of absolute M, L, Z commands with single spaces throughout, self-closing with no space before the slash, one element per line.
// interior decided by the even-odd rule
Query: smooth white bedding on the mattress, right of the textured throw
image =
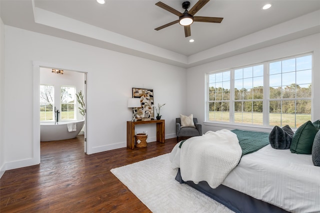
<path fill-rule="evenodd" d="M 270 145 L 244 155 L 224 186 L 293 213 L 320 213 L 320 167 L 311 155 Z"/>

